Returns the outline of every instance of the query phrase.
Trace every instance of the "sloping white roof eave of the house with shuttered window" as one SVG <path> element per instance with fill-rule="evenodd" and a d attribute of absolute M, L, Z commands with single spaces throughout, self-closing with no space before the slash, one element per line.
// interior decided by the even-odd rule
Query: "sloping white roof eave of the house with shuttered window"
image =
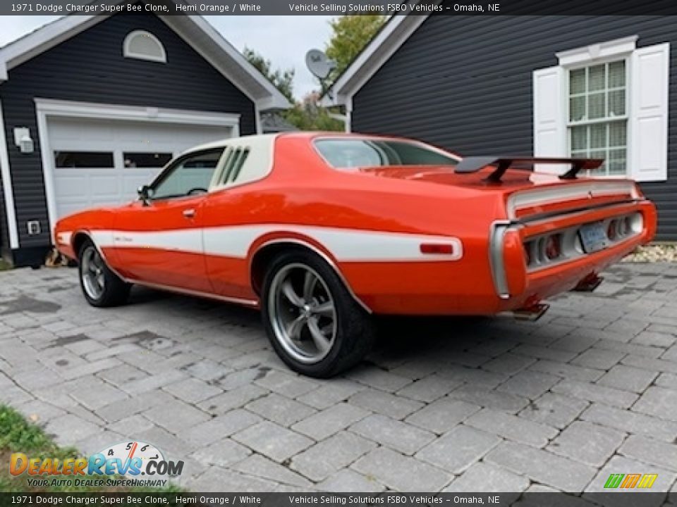
<path fill-rule="evenodd" d="M 410 1 L 418 4 L 420 0 Z M 353 95 L 389 60 L 428 15 L 396 14 L 386 22 L 358 56 L 339 75 L 323 98 L 323 106 L 351 106 Z"/>

